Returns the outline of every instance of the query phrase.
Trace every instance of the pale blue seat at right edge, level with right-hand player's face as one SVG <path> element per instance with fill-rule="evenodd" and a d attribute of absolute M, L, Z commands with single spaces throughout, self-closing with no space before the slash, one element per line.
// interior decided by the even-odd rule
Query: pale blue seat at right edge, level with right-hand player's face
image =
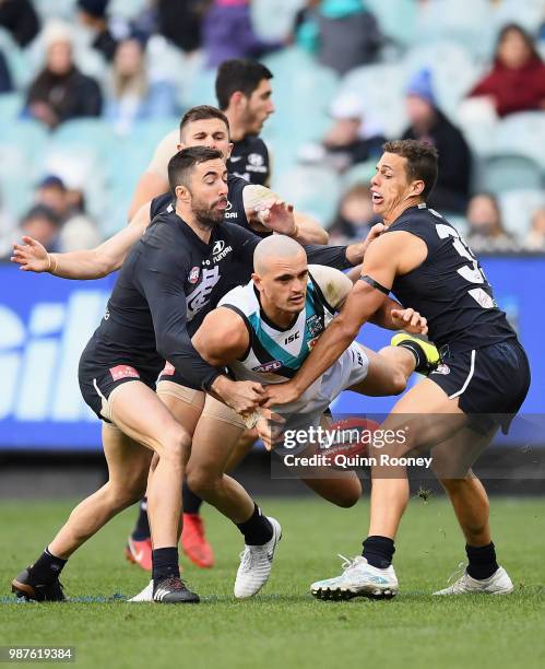
<path fill-rule="evenodd" d="M 493 155 L 483 162 L 481 190 L 499 196 L 521 188 L 538 190 L 542 185 L 540 165 L 524 155 Z"/>

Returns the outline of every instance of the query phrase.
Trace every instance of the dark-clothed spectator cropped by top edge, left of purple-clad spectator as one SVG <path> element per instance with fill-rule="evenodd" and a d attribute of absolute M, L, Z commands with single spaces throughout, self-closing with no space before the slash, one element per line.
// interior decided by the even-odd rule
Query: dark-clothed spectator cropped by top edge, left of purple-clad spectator
<path fill-rule="evenodd" d="M 170 43 L 190 54 L 201 46 L 202 22 L 212 0 L 157 1 L 157 30 Z"/>

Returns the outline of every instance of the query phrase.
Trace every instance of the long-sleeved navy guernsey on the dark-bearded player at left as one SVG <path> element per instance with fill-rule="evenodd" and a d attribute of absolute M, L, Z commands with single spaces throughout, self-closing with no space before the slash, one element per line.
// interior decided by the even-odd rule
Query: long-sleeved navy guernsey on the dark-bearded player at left
<path fill-rule="evenodd" d="M 228 290 L 233 263 L 251 268 L 260 237 L 220 223 L 204 243 L 167 206 L 134 244 L 119 271 L 106 315 L 90 342 L 98 366 L 131 364 L 158 376 L 170 362 L 193 388 L 218 372 L 200 357 L 191 336 Z M 346 247 L 305 247 L 309 261 L 346 268 Z"/>

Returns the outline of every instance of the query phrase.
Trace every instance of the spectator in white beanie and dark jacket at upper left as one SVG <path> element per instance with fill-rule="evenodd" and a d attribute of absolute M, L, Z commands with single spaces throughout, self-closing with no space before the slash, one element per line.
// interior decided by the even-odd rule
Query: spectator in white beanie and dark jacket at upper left
<path fill-rule="evenodd" d="M 62 121 L 99 116 L 102 93 L 94 79 L 82 74 L 72 60 L 72 32 L 54 21 L 44 31 L 46 66 L 31 84 L 25 114 L 54 129 Z"/>

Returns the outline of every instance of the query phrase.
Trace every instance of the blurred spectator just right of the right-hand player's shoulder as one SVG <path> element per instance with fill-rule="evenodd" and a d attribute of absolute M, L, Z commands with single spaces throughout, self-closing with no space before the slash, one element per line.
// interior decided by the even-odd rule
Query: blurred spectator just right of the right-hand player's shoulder
<path fill-rule="evenodd" d="M 503 228 L 497 199 L 481 192 L 470 200 L 466 212 L 467 242 L 475 253 L 517 250 L 514 237 Z"/>

